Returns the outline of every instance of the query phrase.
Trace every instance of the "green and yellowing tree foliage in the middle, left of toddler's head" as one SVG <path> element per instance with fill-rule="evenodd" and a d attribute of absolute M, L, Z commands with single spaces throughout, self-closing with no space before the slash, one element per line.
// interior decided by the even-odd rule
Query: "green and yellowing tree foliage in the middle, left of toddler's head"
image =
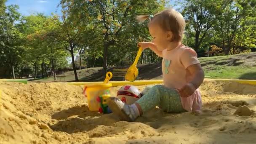
<path fill-rule="evenodd" d="M 146 24 L 139 25 L 135 17 L 157 13 L 163 9 L 165 1 L 61 0 L 61 5 L 69 13 L 72 23 L 86 27 L 85 40 L 82 40 L 91 48 L 93 58 L 89 59 L 94 61 L 96 57 L 100 58 L 94 52 L 103 51 L 106 69 L 107 65 L 120 64 L 122 61 L 131 63 L 138 50 L 139 40 L 149 37 Z"/>

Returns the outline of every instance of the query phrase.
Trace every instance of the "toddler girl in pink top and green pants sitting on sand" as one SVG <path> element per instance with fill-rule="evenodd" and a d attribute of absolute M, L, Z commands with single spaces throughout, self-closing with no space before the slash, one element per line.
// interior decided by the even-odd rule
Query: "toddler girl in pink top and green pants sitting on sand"
<path fill-rule="evenodd" d="M 138 16 L 140 22 L 149 18 L 149 33 L 152 42 L 138 45 L 150 48 L 163 58 L 163 84 L 155 85 L 137 100 L 127 105 L 117 98 L 109 98 L 108 106 L 122 120 L 134 121 L 148 110 L 158 106 L 165 112 L 201 112 L 202 100 L 199 86 L 204 72 L 197 53 L 181 43 L 185 20 L 181 13 L 166 9 L 155 16 Z"/>

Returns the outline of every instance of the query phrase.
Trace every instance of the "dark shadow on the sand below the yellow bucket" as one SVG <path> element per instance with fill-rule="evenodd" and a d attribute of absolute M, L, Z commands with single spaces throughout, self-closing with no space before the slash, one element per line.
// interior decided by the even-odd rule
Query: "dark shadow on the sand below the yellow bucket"
<path fill-rule="evenodd" d="M 90 111 L 86 105 L 71 107 L 54 113 L 52 119 L 59 120 L 54 125 L 49 125 L 53 131 L 77 133 L 90 131 L 99 125 L 112 125 L 120 119 L 113 114 L 100 114 Z"/>

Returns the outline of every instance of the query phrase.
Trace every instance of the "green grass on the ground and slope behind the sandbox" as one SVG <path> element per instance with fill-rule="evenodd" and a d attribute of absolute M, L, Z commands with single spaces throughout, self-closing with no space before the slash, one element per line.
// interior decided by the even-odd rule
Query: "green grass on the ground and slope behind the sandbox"
<path fill-rule="evenodd" d="M 207 76 L 206 78 L 256 80 L 256 52 L 229 56 L 203 57 L 199 58 L 199 60 L 205 71 L 205 76 Z M 152 67 L 148 69 L 150 70 Z M 102 77 L 101 70 L 102 67 L 77 70 L 77 75 L 81 81 L 92 81 L 94 79 L 94 81 L 99 81 L 99 77 Z M 73 71 L 66 72 L 64 75 L 66 75 L 65 81 L 75 80 Z M 53 77 L 48 77 L 32 81 L 50 82 L 54 81 L 54 79 Z"/>

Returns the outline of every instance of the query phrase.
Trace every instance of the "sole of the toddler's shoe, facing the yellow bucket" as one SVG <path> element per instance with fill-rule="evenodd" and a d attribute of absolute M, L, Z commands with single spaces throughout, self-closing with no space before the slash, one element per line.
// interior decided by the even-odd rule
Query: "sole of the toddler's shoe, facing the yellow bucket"
<path fill-rule="evenodd" d="M 126 115 L 123 109 L 114 102 L 114 99 L 115 97 L 108 98 L 107 100 L 108 107 L 112 110 L 114 114 L 118 115 L 121 118 L 121 120 L 131 122 L 132 121 L 131 118 L 128 115 Z"/>

